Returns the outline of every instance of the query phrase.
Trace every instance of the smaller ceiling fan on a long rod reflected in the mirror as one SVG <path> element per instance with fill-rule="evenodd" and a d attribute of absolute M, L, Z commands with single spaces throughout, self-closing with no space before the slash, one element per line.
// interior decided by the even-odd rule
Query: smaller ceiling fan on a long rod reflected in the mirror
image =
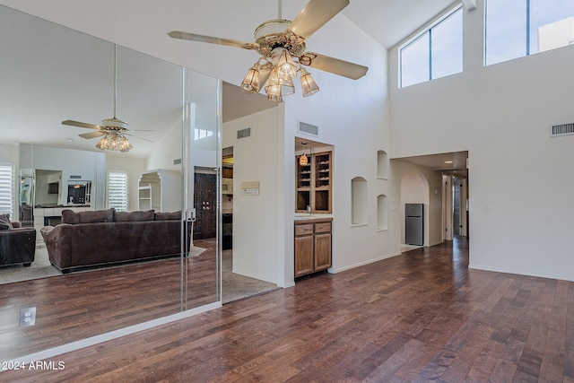
<path fill-rule="evenodd" d="M 117 46 L 114 45 L 114 117 L 101 120 L 101 125 L 88 124 L 85 122 L 66 119 L 62 125 L 87 127 L 94 129 L 94 132 L 83 133 L 79 135 L 82 138 L 91 139 L 102 137 L 96 147 L 101 150 L 111 150 L 119 152 L 129 152 L 134 146 L 129 142 L 126 135 L 130 135 L 126 121 L 116 118 L 116 99 L 117 99 Z M 138 130 L 138 132 L 151 132 L 151 130 Z M 130 135 L 134 136 L 135 135 Z M 136 137 L 143 141 L 152 142 L 142 137 Z"/>

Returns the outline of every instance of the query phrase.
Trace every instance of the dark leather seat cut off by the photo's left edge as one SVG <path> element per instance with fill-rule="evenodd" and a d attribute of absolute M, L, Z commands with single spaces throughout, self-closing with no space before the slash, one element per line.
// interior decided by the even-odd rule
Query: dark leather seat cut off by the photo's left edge
<path fill-rule="evenodd" d="M 0 214 L 0 265 L 29 266 L 34 262 L 36 230 L 10 222 L 8 214 Z"/>

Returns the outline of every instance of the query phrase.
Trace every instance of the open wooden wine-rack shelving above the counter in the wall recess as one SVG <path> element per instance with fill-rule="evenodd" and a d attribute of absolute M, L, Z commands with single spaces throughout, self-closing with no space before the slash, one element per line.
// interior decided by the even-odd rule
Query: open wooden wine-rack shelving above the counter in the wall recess
<path fill-rule="evenodd" d="M 303 165 L 300 157 L 296 156 L 295 211 L 331 213 L 332 152 L 309 154 L 307 163 Z"/>

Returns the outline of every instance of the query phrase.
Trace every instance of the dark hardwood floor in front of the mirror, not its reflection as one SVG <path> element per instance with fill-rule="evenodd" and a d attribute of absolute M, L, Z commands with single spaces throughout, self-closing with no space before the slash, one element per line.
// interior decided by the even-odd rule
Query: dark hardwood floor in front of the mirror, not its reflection
<path fill-rule="evenodd" d="M 574 382 L 574 283 L 468 270 L 465 239 L 13 370 L 2 381 Z"/>

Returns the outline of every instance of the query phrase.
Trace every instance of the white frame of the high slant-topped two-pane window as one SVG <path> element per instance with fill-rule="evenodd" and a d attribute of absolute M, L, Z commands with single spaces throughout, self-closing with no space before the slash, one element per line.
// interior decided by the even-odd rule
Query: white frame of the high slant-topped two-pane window
<path fill-rule="evenodd" d="M 436 27 L 438 27 L 440 24 L 442 24 L 443 22 L 447 21 L 448 18 L 450 18 L 452 15 L 454 15 L 457 12 L 461 12 L 461 16 L 462 16 L 462 25 L 461 25 L 461 39 L 464 38 L 464 13 L 463 13 L 463 3 L 459 2 L 457 3 L 455 6 L 453 6 L 452 8 L 448 9 L 448 11 L 442 13 L 440 16 L 438 16 L 433 22 L 429 23 L 426 27 L 422 28 L 421 31 L 419 31 L 418 33 L 414 34 L 414 36 L 411 39 L 408 39 L 406 42 L 404 42 L 404 44 L 402 44 L 399 48 L 398 48 L 398 88 L 399 89 L 403 89 L 412 85 L 416 85 L 418 83 L 411 83 L 409 85 L 403 85 L 403 50 L 405 48 L 408 48 L 409 46 L 411 46 L 413 43 L 415 43 L 416 41 L 422 39 L 423 36 L 425 35 L 429 35 L 429 47 L 428 47 L 428 57 L 429 57 L 429 78 L 427 80 L 424 80 L 420 83 L 427 83 L 429 81 L 432 80 L 436 80 L 442 77 L 446 77 L 448 75 L 452 75 L 452 74 L 459 74 L 463 72 L 464 69 L 464 50 L 461 49 L 461 68 L 460 68 L 460 72 L 454 72 L 452 74 L 446 74 L 446 75 L 441 75 L 440 77 L 432 77 L 432 30 Z M 463 47 L 464 47 L 464 42 L 463 42 Z"/>

